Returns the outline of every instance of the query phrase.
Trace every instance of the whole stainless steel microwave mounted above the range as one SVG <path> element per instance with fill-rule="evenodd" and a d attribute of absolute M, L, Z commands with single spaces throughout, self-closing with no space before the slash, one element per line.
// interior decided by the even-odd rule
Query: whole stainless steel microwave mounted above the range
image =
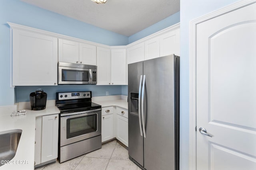
<path fill-rule="evenodd" d="M 97 66 L 58 62 L 58 84 L 97 84 Z"/>

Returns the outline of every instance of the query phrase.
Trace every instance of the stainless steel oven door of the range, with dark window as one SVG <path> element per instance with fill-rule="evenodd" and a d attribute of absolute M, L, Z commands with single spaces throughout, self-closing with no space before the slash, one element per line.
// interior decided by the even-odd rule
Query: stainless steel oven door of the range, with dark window
<path fill-rule="evenodd" d="M 60 147 L 101 135 L 100 111 L 60 115 Z"/>

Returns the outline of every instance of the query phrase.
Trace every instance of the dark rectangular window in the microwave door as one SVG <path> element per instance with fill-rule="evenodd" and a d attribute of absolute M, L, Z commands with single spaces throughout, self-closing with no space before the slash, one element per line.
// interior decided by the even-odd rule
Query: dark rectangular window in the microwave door
<path fill-rule="evenodd" d="M 89 71 L 62 69 L 62 81 L 64 81 L 64 82 L 89 82 Z"/>

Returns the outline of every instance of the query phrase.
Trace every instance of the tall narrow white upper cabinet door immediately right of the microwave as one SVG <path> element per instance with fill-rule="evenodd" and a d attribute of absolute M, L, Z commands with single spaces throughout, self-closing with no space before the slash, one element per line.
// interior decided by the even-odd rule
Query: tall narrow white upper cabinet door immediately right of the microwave
<path fill-rule="evenodd" d="M 110 49 L 97 47 L 97 85 L 110 84 Z"/>

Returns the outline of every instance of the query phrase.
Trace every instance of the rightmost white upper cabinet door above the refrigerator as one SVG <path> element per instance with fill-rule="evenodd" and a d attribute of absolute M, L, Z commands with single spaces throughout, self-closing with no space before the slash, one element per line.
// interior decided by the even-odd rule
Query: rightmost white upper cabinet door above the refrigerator
<path fill-rule="evenodd" d="M 180 29 L 160 36 L 160 56 L 175 54 L 180 56 Z"/>

